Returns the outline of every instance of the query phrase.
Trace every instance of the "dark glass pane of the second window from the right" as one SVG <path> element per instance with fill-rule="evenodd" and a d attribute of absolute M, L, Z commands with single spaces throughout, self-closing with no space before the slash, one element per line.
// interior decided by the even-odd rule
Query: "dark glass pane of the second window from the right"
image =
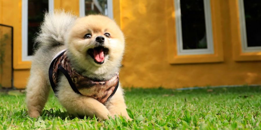
<path fill-rule="evenodd" d="M 183 49 L 207 49 L 203 0 L 180 0 Z"/>

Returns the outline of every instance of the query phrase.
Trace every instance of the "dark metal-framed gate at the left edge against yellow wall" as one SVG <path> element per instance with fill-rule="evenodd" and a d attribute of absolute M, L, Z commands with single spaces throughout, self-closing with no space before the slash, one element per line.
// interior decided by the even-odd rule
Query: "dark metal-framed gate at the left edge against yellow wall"
<path fill-rule="evenodd" d="M 13 27 L 0 24 L 0 88 L 13 86 Z"/>

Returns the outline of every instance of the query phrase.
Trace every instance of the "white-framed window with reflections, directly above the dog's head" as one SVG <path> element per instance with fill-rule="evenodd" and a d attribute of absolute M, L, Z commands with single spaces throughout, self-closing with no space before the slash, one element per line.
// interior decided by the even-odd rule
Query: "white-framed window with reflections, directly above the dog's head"
<path fill-rule="evenodd" d="M 80 16 L 87 14 L 103 14 L 113 18 L 112 0 L 79 0 Z"/>

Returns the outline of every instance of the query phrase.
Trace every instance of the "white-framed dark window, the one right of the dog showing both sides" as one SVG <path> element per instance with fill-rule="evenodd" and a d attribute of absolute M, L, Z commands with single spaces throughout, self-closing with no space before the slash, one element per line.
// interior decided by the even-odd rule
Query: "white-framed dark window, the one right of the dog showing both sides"
<path fill-rule="evenodd" d="M 210 0 L 174 0 L 177 55 L 213 54 Z"/>

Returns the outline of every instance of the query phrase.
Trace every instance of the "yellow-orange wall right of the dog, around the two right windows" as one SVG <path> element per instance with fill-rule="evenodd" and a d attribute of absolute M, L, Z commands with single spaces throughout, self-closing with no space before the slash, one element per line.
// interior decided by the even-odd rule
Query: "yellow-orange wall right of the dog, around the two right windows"
<path fill-rule="evenodd" d="M 174 14 L 173 0 L 122 0 L 121 25 L 127 44 L 120 73 L 123 86 L 182 88 L 261 84 L 260 61 L 236 62 L 233 59 L 232 36 L 236 34 L 231 32 L 235 25 L 231 24 L 230 15 L 234 14 L 229 12 L 234 8 L 227 0 L 220 0 L 218 4 L 214 7 L 221 12 L 220 21 L 216 22 L 221 28 L 219 38 L 222 40 L 218 44 L 223 45 L 223 62 L 170 64 L 167 43 L 168 38 L 175 36 L 167 37 L 167 32 L 174 30 L 167 25 L 168 17 Z"/>

